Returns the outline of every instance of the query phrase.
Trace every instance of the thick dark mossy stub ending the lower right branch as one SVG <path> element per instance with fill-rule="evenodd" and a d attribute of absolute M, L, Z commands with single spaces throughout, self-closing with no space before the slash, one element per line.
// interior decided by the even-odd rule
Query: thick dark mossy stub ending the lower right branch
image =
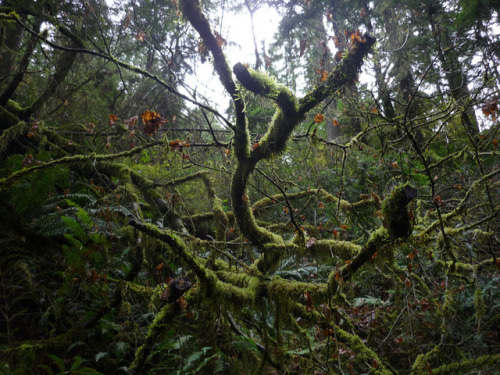
<path fill-rule="evenodd" d="M 382 203 L 384 227 L 391 238 L 406 238 L 412 231 L 408 203 L 417 196 L 417 189 L 408 184 L 397 186 Z"/>

